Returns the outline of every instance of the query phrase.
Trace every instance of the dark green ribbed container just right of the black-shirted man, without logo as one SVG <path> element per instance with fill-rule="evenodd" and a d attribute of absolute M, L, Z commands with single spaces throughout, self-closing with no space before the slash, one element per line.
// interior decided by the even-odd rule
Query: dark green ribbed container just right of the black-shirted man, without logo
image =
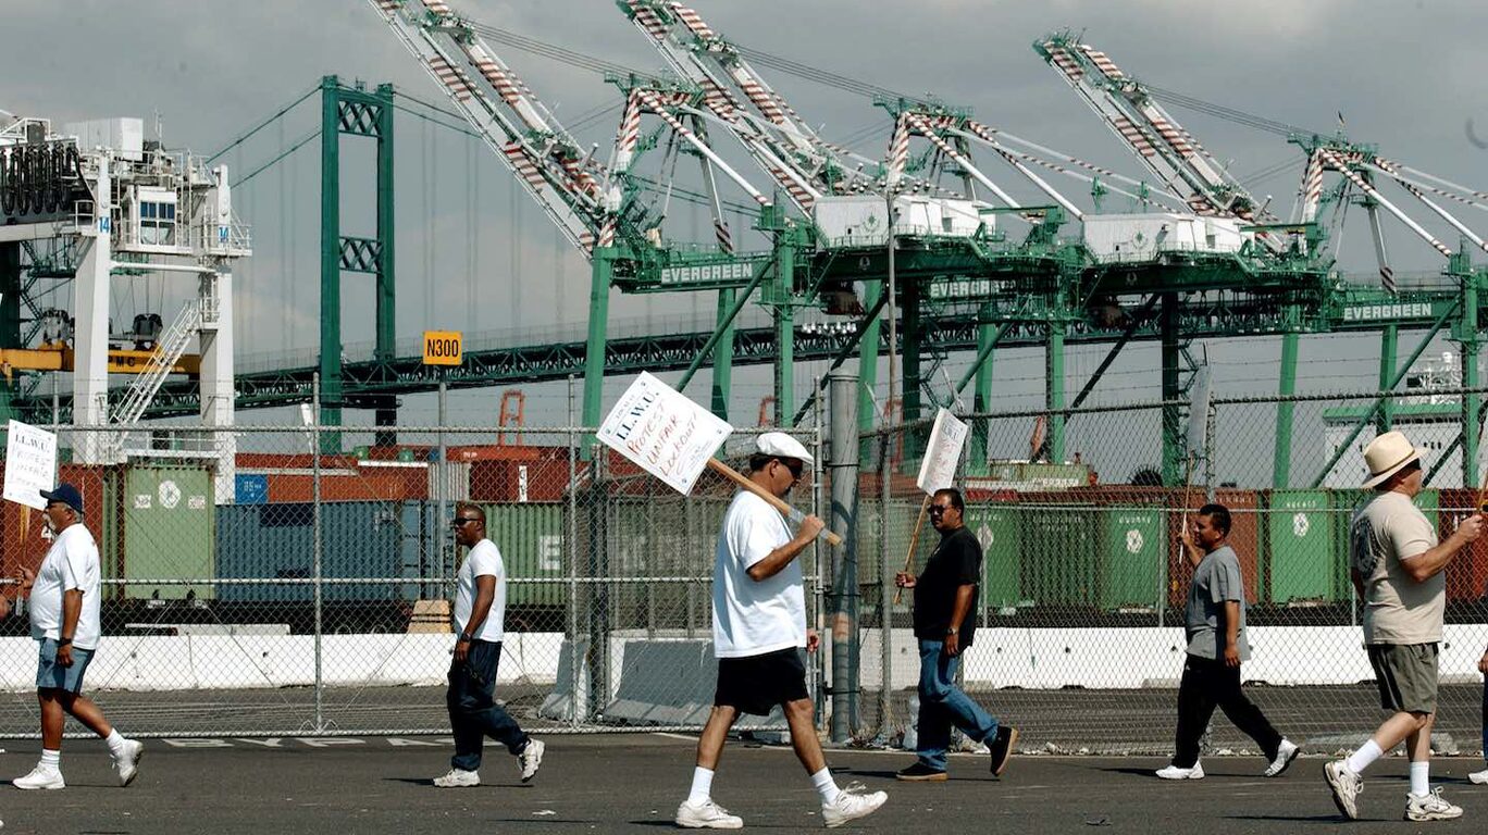
<path fill-rule="evenodd" d="M 1024 600 L 1036 606 L 1094 606 L 1100 511 L 1088 505 L 1037 505 L 1024 506 L 1018 515 Z"/>

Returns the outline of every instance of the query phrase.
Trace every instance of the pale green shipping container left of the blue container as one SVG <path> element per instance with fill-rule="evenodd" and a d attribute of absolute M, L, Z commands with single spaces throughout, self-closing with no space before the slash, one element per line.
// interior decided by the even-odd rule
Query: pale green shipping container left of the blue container
<path fill-rule="evenodd" d="M 213 597 L 213 585 L 137 583 L 135 579 L 210 580 L 216 576 L 211 472 L 131 466 L 124 476 L 124 595 Z"/>

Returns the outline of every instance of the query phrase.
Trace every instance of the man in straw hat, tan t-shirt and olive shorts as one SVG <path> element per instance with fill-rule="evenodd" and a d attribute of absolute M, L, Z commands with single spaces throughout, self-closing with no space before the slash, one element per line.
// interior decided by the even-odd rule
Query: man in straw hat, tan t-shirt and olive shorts
<path fill-rule="evenodd" d="M 1421 451 L 1399 432 L 1364 448 L 1366 488 L 1375 494 L 1348 527 L 1350 576 L 1364 601 L 1364 644 L 1391 716 L 1359 750 L 1329 762 L 1323 774 L 1344 817 L 1359 817 L 1363 771 L 1402 741 L 1411 758 L 1406 820 L 1451 820 L 1461 807 L 1430 786 L 1431 726 L 1436 723 L 1437 649 L 1446 606 L 1446 566 L 1482 531 L 1482 515 L 1463 519 L 1446 542 L 1411 502 L 1421 493 Z"/>

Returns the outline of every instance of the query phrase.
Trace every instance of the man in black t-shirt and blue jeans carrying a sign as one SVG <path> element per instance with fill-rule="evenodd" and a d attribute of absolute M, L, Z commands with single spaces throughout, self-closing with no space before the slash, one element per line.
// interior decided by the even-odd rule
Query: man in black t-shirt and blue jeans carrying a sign
<path fill-rule="evenodd" d="M 900 572 L 894 585 L 915 589 L 915 639 L 920 642 L 920 759 L 900 770 L 900 780 L 945 780 L 951 725 L 987 743 L 992 774 L 1001 775 L 1018 743 L 1018 729 L 998 725 L 955 686 L 961 652 L 976 633 L 976 597 L 982 578 L 982 543 L 966 528 L 961 491 L 937 490 L 930 524 L 940 543 L 920 576 Z"/>

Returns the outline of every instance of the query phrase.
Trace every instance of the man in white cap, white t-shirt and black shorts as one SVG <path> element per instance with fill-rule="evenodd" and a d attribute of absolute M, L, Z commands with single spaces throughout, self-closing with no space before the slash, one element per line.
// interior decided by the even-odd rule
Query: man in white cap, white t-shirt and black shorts
<path fill-rule="evenodd" d="M 783 432 L 766 432 L 750 457 L 750 481 L 781 497 L 801 481 L 811 454 Z M 806 670 L 801 649 L 814 650 L 817 636 L 806 630 L 806 601 L 796 561 L 826 527 L 817 516 L 801 519 L 790 534 L 780 512 L 744 490 L 729 505 L 719 531 L 713 569 L 713 653 L 719 659 L 719 686 L 713 713 L 698 737 L 698 764 L 692 790 L 677 807 L 677 826 L 686 829 L 738 829 L 744 820 L 713 802 L 713 772 L 723 740 L 740 713 L 768 716 L 784 707 L 790 741 L 811 783 L 821 795 L 821 822 L 841 826 L 884 805 L 884 792 L 844 792 L 832 780 L 812 723 Z"/>

